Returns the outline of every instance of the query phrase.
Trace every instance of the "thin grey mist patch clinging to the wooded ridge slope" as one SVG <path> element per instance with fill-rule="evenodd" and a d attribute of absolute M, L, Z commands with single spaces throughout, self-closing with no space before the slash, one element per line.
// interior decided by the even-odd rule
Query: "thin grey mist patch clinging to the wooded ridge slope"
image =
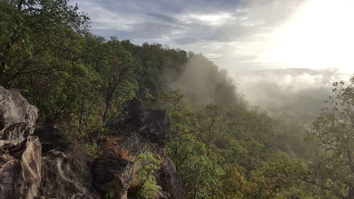
<path fill-rule="evenodd" d="M 204 56 L 191 55 L 184 68 L 181 74 L 164 71 L 166 90 L 181 89 L 190 103 L 222 103 L 230 107 L 244 103 L 236 94 L 234 79 Z"/>

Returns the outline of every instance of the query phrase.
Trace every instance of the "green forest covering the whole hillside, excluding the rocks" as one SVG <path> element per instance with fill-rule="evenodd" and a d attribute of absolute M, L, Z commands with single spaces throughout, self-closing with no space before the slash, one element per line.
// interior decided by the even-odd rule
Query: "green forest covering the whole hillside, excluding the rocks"
<path fill-rule="evenodd" d="M 169 116 L 164 150 L 184 198 L 354 199 L 354 79 L 334 82 L 306 125 L 249 106 L 203 55 L 93 35 L 89 16 L 67 0 L 0 0 L 0 18 L 0 85 L 19 89 L 39 109 L 38 123 L 59 124 L 92 161 L 138 98 Z M 161 164 L 138 159 L 152 171 Z M 133 179 L 137 198 L 156 198 L 149 175 Z"/>

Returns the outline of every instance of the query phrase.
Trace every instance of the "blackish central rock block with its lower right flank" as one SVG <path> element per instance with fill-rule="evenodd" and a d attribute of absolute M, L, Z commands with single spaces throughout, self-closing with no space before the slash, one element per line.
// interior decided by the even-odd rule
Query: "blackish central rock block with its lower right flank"
<path fill-rule="evenodd" d="M 176 176 L 176 166 L 164 152 L 164 144 L 171 136 L 169 118 L 164 110 L 148 110 L 142 101 L 133 99 L 127 108 L 130 118 L 128 123 L 134 130 L 122 130 L 124 139 L 119 145 L 127 149 L 132 156 L 140 153 L 152 152 L 159 155 L 163 164 L 156 172 L 156 181 L 162 191 L 159 198 L 183 198 L 183 187 Z M 129 133 L 125 133 L 125 132 Z"/>

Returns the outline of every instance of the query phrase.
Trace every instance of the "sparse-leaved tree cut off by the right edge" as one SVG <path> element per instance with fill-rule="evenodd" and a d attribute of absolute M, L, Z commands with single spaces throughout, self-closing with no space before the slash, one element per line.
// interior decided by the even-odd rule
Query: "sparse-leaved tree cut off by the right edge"
<path fill-rule="evenodd" d="M 354 77 L 350 84 L 333 83 L 328 107 L 312 124 L 309 135 L 322 152 L 310 164 L 309 183 L 319 186 L 324 198 L 354 198 Z"/>

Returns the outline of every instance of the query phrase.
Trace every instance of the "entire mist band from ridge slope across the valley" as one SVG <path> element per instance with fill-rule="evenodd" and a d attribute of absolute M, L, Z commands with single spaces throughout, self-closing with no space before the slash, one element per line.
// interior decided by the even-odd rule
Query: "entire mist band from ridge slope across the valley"
<path fill-rule="evenodd" d="M 190 103 L 249 106 L 274 119 L 309 125 L 331 96 L 340 69 L 264 69 L 229 74 L 202 55 L 192 55 L 181 74 L 165 69 L 166 90 L 181 89 Z M 236 99 L 236 101 L 234 101 Z"/>

